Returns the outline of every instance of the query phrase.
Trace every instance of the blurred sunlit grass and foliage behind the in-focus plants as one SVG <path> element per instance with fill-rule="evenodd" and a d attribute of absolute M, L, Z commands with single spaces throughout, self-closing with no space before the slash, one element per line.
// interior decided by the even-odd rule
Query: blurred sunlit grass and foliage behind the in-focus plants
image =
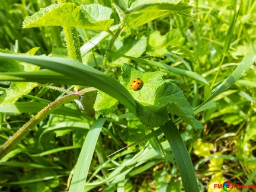
<path fill-rule="evenodd" d="M 40 8 L 47 7 L 55 1 L 46 0 L 1 0 L 0 1 L 0 49 L 9 49 L 15 53 L 26 53 L 33 47 L 40 47 L 37 55 L 62 55 L 65 51 L 65 39 L 60 27 L 22 28 L 24 18 L 33 15 Z M 113 8 L 111 1 L 75 1 L 79 4 L 99 3 Z M 194 1 L 194 18 L 185 18 L 171 14 L 159 18 L 140 27 L 132 28 L 121 36 L 145 36 L 148 47 L 143 58 L 157 60 L 177 68 L 200 73 L 212 84 L 223 57 L 223 47 L 232 20 L 232 1 Z M 222 70 L 215 85 L 220 84 L 236 68 L 242 58 L 249 52 L 254 52 L 256 43 L 256 1 L 238 1 L 240 5 L 238 19 L 233 31 L 231 47 L 223 60 Z M 113 8 L 112 17 L 118 23 L 117 12 Z M 159 31 L 159 32 L 156 32 Z M 153 39 L 168 39 L 166 34 L 175 31 L 180 44 L 167 45 L 167 53 L 163 56 L 152 55 L 151 37 Z M 99 31 L 86 31 L 87 38 L 91 39 Z M 153 34 L 155 33 L 155 34 Z M 152 35 L 153 34 L 153 35 Z M 168 39 L 171 41 L 171 39 Z M 101 46 L 108 43 L 108 39 L 101 42 Z M 81 46 L 84 39 L 81 38 Z M 156 46 L 156 45 L 155 45 Z M 153 47 L 154 49 L 161 49 Z M 94 56 L 102 60 L 102 50 L 95 49 Z M 155 53 L 154 53 L 155 54 Z M 88 65 L 95 66 L 92 55 L 85 55 Z M 91 59 L 90 59 L 91 58 Z M 158 71 L 145 65 L 134 65 L 140 71 Z M 120 69 L 110 67 L 108 71 L 114 78 L 119 79 Z M 185 123 L 178 125 L 180 132 L 190 152 L 196 169 L 196 175 L 201 191 L 215 191 L 214 183 L 223 183 L 230 180 L 239 184 L 255 184 L 256 176 L 256 68 L 255 65 L 242 76 L 231 88 L 215 98 L 215 108 L 197 114 L 197 119 L 204 125 L 204 130 L 194 131 Z M 184 76 L 168 73 L 165 81 L 172 81 L 183 90 L 185 97 L 193 107 L 198 106 L 205 99 L 204 85 L 197 84 Z M 9 86 L 1 82 L 1 90 Z M 55 85 L 63 88 L 72 88 L 70 85 Z M 45 101 L 54 101 L 60 93 L 46 88 L 35 88 L 30 92 L 37 98 Z M 21 97 L 19 101 L 31 101 Z M 76 109 L 74 103 L 66 106 Z M 95 114 L 97 116 L 97 113 Z M 1 113 L 0 143 L 13 135 L 33 113 L 12 114 Z M 87 135 L 87 129 L 94 122 L 94 118 L 84 116 L 82 127 L 75 122 L 76 118 L 50 115 L 41 121 L 36 129 L 30 132 L 19 147 L 0 162 L 0 186 L 4 191 L 64 191 L 70 181 L 69 175 L 75 165 L 79 147 Z M 68 122 L 73 126 L 66 127 Z M 59 127 L 60 129 L 57 129 Z M 119 105 L 117 110 L 108 116 L 107 126 L 101 135 L 104 149 L 107 154 L 134 142 L 145 135 L 145 127 L 127 109 Z M 72 150 L 57 151 L 64 146 L 71 146 Z M 132 153 L 139 151 L 143 145 L 127 149 L 129 155 L 120 156 L 116 164 L 132 158 Z M 42 154 L 45 152 L 44 154 Z M 171 153 L 170 153 L 171 154 Z M 125 158 L 124 158 L 125 157 Z M 11 161 L 7 161 L 11 160 Z M 179 191 L 180 176 L 173 166 L 172 174 L 167 171 L 164 161 L 152 159 L 151 165 L 145 168 L 142 174 L 130 175 L 126 183 L 126 191 Z M 91 164 L 91 172 L 99 167 L 97 155 Z M 114 168 L 111 164 L 109 169 Z M 43 181 L 46 176 L 52 176 Z M 38 179 L 38 182 L 34 182 Z M 93 178 L 92 178 L 93 181 Z M 92 182 L 91 181 L 91 182 Z M 105 185 L 99 185 L 101 190 Z M 39 190 L 40 189 L 40 190 Z"/>

